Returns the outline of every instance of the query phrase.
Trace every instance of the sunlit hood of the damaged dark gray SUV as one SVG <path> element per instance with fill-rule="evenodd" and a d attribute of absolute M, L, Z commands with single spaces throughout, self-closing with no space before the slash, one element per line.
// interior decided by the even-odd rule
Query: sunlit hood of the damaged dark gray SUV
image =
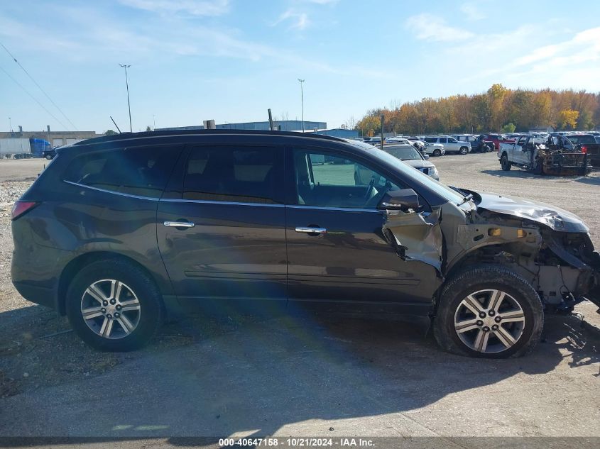
<path fill-rule="evenodd" d="M 486 209 L 498 214 L 507 214 L 518 218 L 526 218 L 548 226 L 554 231 L 584 232 L 589 228 L 581 218 L 571 212 L 565 211 L 550 204 L 519 198 L 518 196 L 498 195 L 486 192 L 472 192 L 481 197 L 477 208 Z M 477 199 L 477 198 L 475 198 Z"/>

